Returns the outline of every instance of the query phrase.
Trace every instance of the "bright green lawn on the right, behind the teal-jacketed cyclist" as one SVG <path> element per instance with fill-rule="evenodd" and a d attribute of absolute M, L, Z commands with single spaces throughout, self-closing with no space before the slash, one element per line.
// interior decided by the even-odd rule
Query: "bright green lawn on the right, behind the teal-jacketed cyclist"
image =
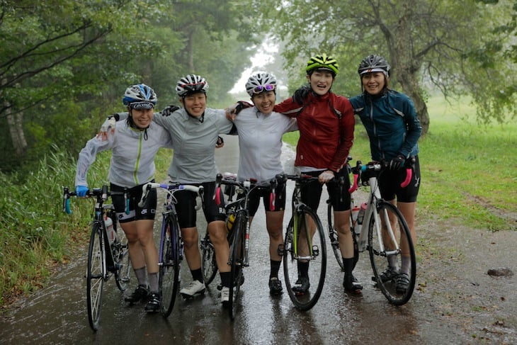
<path fill-rule="evenodd" d="M 479 125 L 467 100 L 428 101 L 431 125 L 419 140 L 421 188 L 417 219 L 484 230 L 517 230 L 517 125 Z M 295 146 L 297 133 L 284 140 Z M 368 162 L 363 125 L 356 124 L 354 161 Z"/>

